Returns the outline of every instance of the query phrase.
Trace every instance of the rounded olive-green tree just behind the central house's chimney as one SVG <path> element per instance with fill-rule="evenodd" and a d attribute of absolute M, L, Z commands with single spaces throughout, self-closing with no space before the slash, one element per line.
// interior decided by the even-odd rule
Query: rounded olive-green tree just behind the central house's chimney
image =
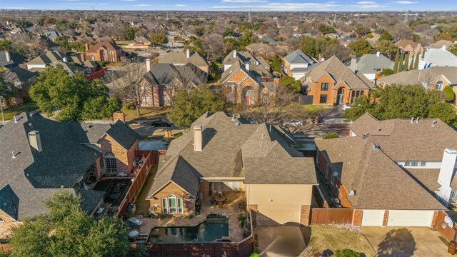
<path fill-rule="evenodd" d="M 211 114 L 225 111 L 224 97 L 206 86 L 191 91 L 177 91 L 173 101 L 173 107 L 167 116 L 169 121 L 180 128 L 188 128 L 206 111 Z"/>

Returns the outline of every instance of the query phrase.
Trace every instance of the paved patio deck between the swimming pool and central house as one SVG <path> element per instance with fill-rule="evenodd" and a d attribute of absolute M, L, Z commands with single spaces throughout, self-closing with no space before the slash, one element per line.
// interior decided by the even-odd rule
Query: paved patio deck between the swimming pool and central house
<path fill-rule="evenodd" d="M 205 197 L 202 201 L 201 213 L 194 218 L 148 218 L 144 217 L 144 225 L 140 227 L 140 234 L 149 235 L 152 228 L 163 226 L 197 226 L 206 221 L 206 216 L 210 214 L 224 214 L 229 216 L 229 238 L 233 242 L 243 240 L 238 216 L 241 213 L 239 210 L 239 202 L 245 196 L 244 192 L 226 193 L 229 196 L 229 202 L 224 205 L 212 205 L 211 198 Z"/>

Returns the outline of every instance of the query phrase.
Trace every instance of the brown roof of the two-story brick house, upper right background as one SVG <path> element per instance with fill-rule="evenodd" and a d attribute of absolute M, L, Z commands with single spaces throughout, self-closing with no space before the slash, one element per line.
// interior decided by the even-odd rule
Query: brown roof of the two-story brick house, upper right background
<path fill-rule="evenodd" d="M 336 56 L 332 56 L 330 59 L 313 66 L 306 72 L 306 76 L 312 81 L 318 81 L 326 73 L 330 74 L 336 81 L 336 86 L 341 82 L 346 82 L 350 89 L 371 89 L 371 86 L 373 86 L 365 76 L 354 74 Z"/>

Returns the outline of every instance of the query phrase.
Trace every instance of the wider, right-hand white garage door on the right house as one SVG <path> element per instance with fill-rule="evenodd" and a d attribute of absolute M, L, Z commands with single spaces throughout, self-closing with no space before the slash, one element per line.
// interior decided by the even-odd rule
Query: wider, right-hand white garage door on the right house
<path fill-rule="evenodd" d="M 431 226 L 434 211 L 389 211 L 387 226 Z"/>

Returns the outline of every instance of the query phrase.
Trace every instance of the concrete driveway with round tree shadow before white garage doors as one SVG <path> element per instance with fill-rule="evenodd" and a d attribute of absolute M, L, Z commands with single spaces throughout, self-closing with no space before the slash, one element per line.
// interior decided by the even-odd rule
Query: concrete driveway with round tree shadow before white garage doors
<path fill-rule="evenodd" d="M 449 256 L 448 247 L 438 232 L 423 227 L 362 227 L 376 256 Z"/>

